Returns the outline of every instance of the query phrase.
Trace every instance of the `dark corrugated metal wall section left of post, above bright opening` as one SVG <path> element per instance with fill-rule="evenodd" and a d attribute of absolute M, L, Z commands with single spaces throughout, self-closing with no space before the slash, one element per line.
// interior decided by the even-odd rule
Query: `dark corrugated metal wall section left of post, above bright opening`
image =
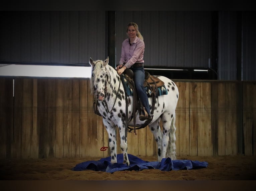
<path fill-rule="evenodd" d="M 106 12 L 2 11 L 0 61 L 84 64 L 106 57 Z"/>

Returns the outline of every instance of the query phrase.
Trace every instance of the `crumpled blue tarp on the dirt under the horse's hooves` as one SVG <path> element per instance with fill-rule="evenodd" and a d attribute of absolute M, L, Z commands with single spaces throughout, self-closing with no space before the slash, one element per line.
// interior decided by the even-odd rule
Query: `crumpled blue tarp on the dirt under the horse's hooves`
<path fill-rule="evenodd" d="M 141 160 L 140 158 L 128 154 L 130 165 L 127 166 L 123 164 L 123 154 L 117 155 L 117 163 L 110 163 L 110 156 L 102 158 L 98 161 L 86 161 L 77 164 L 72 170 L 82 171 L 82 170 L 94 170 L 94 171 L 104 171 L 113 173 L 115 171 L 123 170 L 144 170 L 144 169 L 159 169 L 161 171 L 170 170 L 192 170 L 198 168 L 206 168 L 208 162 L 197 161 L 197 160 L 171 160 L 170 158 L 163 158 L 161 162 L 149 162 Z"/>

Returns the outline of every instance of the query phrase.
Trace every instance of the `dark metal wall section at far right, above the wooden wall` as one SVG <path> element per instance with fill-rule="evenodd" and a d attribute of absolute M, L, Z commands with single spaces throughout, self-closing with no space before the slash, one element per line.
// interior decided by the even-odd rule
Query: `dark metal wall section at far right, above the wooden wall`
<path fill-rule="evenodd" d="M 254 11 L 220 11 L 218 26 L 219 80 L 237 80 L 237 65 L 242 67 L 242 80 L 256 80 L 256 13 Z M 241 23 L 240 22 L 241 18 Z M 241 24 L 241 34 L 238 33 Z M 241 35 L 241 36 L 240 36 Z M 241 45 L 239 40 L 241 39 Z M 242 46 L 242 47 L 239 47 Z M 242 63 L 237 58 L 242 57 Z M 240 66 L 238 66 L 240 67 Z M 239 72 L 238 72 L 239 73 Z"/>

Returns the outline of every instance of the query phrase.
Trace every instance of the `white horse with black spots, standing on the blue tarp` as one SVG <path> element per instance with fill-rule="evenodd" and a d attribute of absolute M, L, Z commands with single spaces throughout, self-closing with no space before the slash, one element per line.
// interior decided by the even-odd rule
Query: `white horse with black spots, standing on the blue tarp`
<path fill-rule="evenodd" d="M 133 126 L 133 96 L 128 96 L 128 113 L 126 113 L 125 89 L 117 71 L 108 65 L 109 57 L 105 60 L 94 61 L 90 58 L 92 66 L 92 76 L 90 79 L 90 88 L 94 96 L 98 99 L 98 110 L 103 118 L 103 123 L 109 136 L 109 147 L 111 151 L 111 163 L 117 162 L 116 153 L 116 127 L 119 128 L 121 144 L 123 151 L 124 164 L 129 166 L 130 162 L 127 155 L 127 137 L 125 119 L 128 115 L 128 126 Z M 154 116 L 148 124 L 154 134 L 158 146 L 158 161 L 162 158 L 170 157 L 176 159 L 176 137 L 175 137 L 175 109 L 179 97 L 177 86 L 170 79 L 158 76 L 164 82 L 167 88 L 167 95 L 158 96 L 156 99 Z M 149 97 L 149 106 L 152 107 L 152 100 Z M 160 118 L 162 120 L 162 130 L 159 126 Z M 140 121 L 138 112 L 136 112 L 136 126 L 141 126 L 145 121 Z"/>

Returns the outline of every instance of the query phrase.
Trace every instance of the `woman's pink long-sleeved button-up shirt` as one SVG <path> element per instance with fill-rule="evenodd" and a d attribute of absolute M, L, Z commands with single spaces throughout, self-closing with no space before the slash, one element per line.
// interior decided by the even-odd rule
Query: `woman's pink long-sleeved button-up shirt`
<path fill-rule="evenodd" d="M 122 43 L 122 52 L 119 65 L 126 63 L 124 66 L 130 68 L 134 63 L 144 63 L 145 44 L 144 42 L 136 37 L 132 45 L 129 43 L 129 38 L 125 39 Z"/>

